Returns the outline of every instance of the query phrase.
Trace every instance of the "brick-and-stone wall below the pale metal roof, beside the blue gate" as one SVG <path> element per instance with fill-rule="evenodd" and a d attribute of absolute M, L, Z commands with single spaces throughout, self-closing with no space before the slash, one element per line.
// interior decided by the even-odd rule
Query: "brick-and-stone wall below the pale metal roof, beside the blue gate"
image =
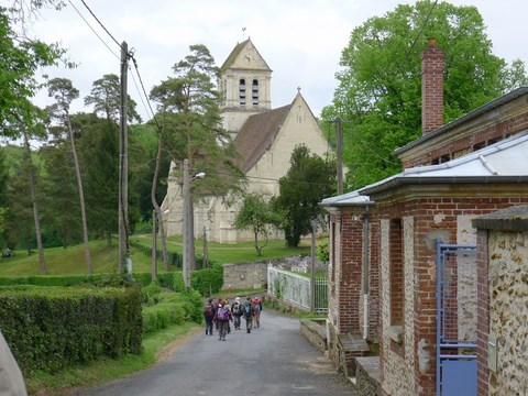
<path fill-rule="evenodd" d="M 436 393 L 436 240 L 444 243 L 475 243 L 471 219 L 528 197 L 421 198 L 380 206 L 381 218 L 381 377 L 386 395 L 433 395 Z M 404 241 L 405 314 L 399 337 L 392 322 L 391 221 L 400 219 Z M 471 263 L 465 263 L 465 266 Z M 476 337 L 476 271 L 461 272 L 459 304 L 465 319 L 459 330 Z M 465 286 L 464 286 L 465 285 Z M 399 334 L 397 334 L 399 336 Z"/>

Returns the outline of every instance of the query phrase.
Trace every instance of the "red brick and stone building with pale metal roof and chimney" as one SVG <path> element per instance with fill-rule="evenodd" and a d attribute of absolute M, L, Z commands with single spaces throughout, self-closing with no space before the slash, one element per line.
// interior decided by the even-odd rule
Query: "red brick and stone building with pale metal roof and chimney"
<path fill-rule="evenodd" d="M 422 53 L 424 134 L 396 151 L 404 172 L 321 202 L 330 212 L 330 355 L 353 361 L 343 334 L 377 341 L 384 395 L 436 395 L 439 378 L 448 386 L 448 371 L 437 371 L 439 241 L 474 245 L 474 218 L 528 204 L 528 88 L 442 125 L 442 67 L 431 42 Z M 455 265 L 452 331 L 471 344 L 476 260 Z"/>

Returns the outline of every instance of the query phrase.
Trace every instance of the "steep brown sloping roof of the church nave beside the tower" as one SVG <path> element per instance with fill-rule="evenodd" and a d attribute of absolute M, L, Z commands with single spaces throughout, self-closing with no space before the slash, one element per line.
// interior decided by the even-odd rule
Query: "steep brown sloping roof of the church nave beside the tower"
<path fill-rule="evenodd" d="M 274 142 L 292 105 L 251 116 L 240 130 L 234 143 L 242 156 L 245 173 L 255 165 Z"/>

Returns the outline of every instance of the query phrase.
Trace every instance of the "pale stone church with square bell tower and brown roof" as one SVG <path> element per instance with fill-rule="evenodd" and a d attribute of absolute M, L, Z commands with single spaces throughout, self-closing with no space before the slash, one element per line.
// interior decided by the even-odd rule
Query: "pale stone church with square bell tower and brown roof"
<path fill-rule="evenodd" d="M 220 68 L 218 90 L 222 102 L 223 128 L 233 139 L 248 178 L 246 190 L 265 196 L 279 193 L 278 179 L 289 169 L 292 152 L 305 144 L 323 156 L 330 151 L 319 123 L 297 89 L 289 105 L 272 109 L 272 69 L 251 38 L 237 44 Z M 207 176 L 206 176 L 207 177 Z M 168 177 L 162 204 L 165 232 L 182 234 L 182 188 Z M 221 197 L 206 197 L 194 204 L 195 238 L 219 243 L 250 241 L 252 233 L 237 230 L 234 218 L 240 206 L 227 208 Z"/>

